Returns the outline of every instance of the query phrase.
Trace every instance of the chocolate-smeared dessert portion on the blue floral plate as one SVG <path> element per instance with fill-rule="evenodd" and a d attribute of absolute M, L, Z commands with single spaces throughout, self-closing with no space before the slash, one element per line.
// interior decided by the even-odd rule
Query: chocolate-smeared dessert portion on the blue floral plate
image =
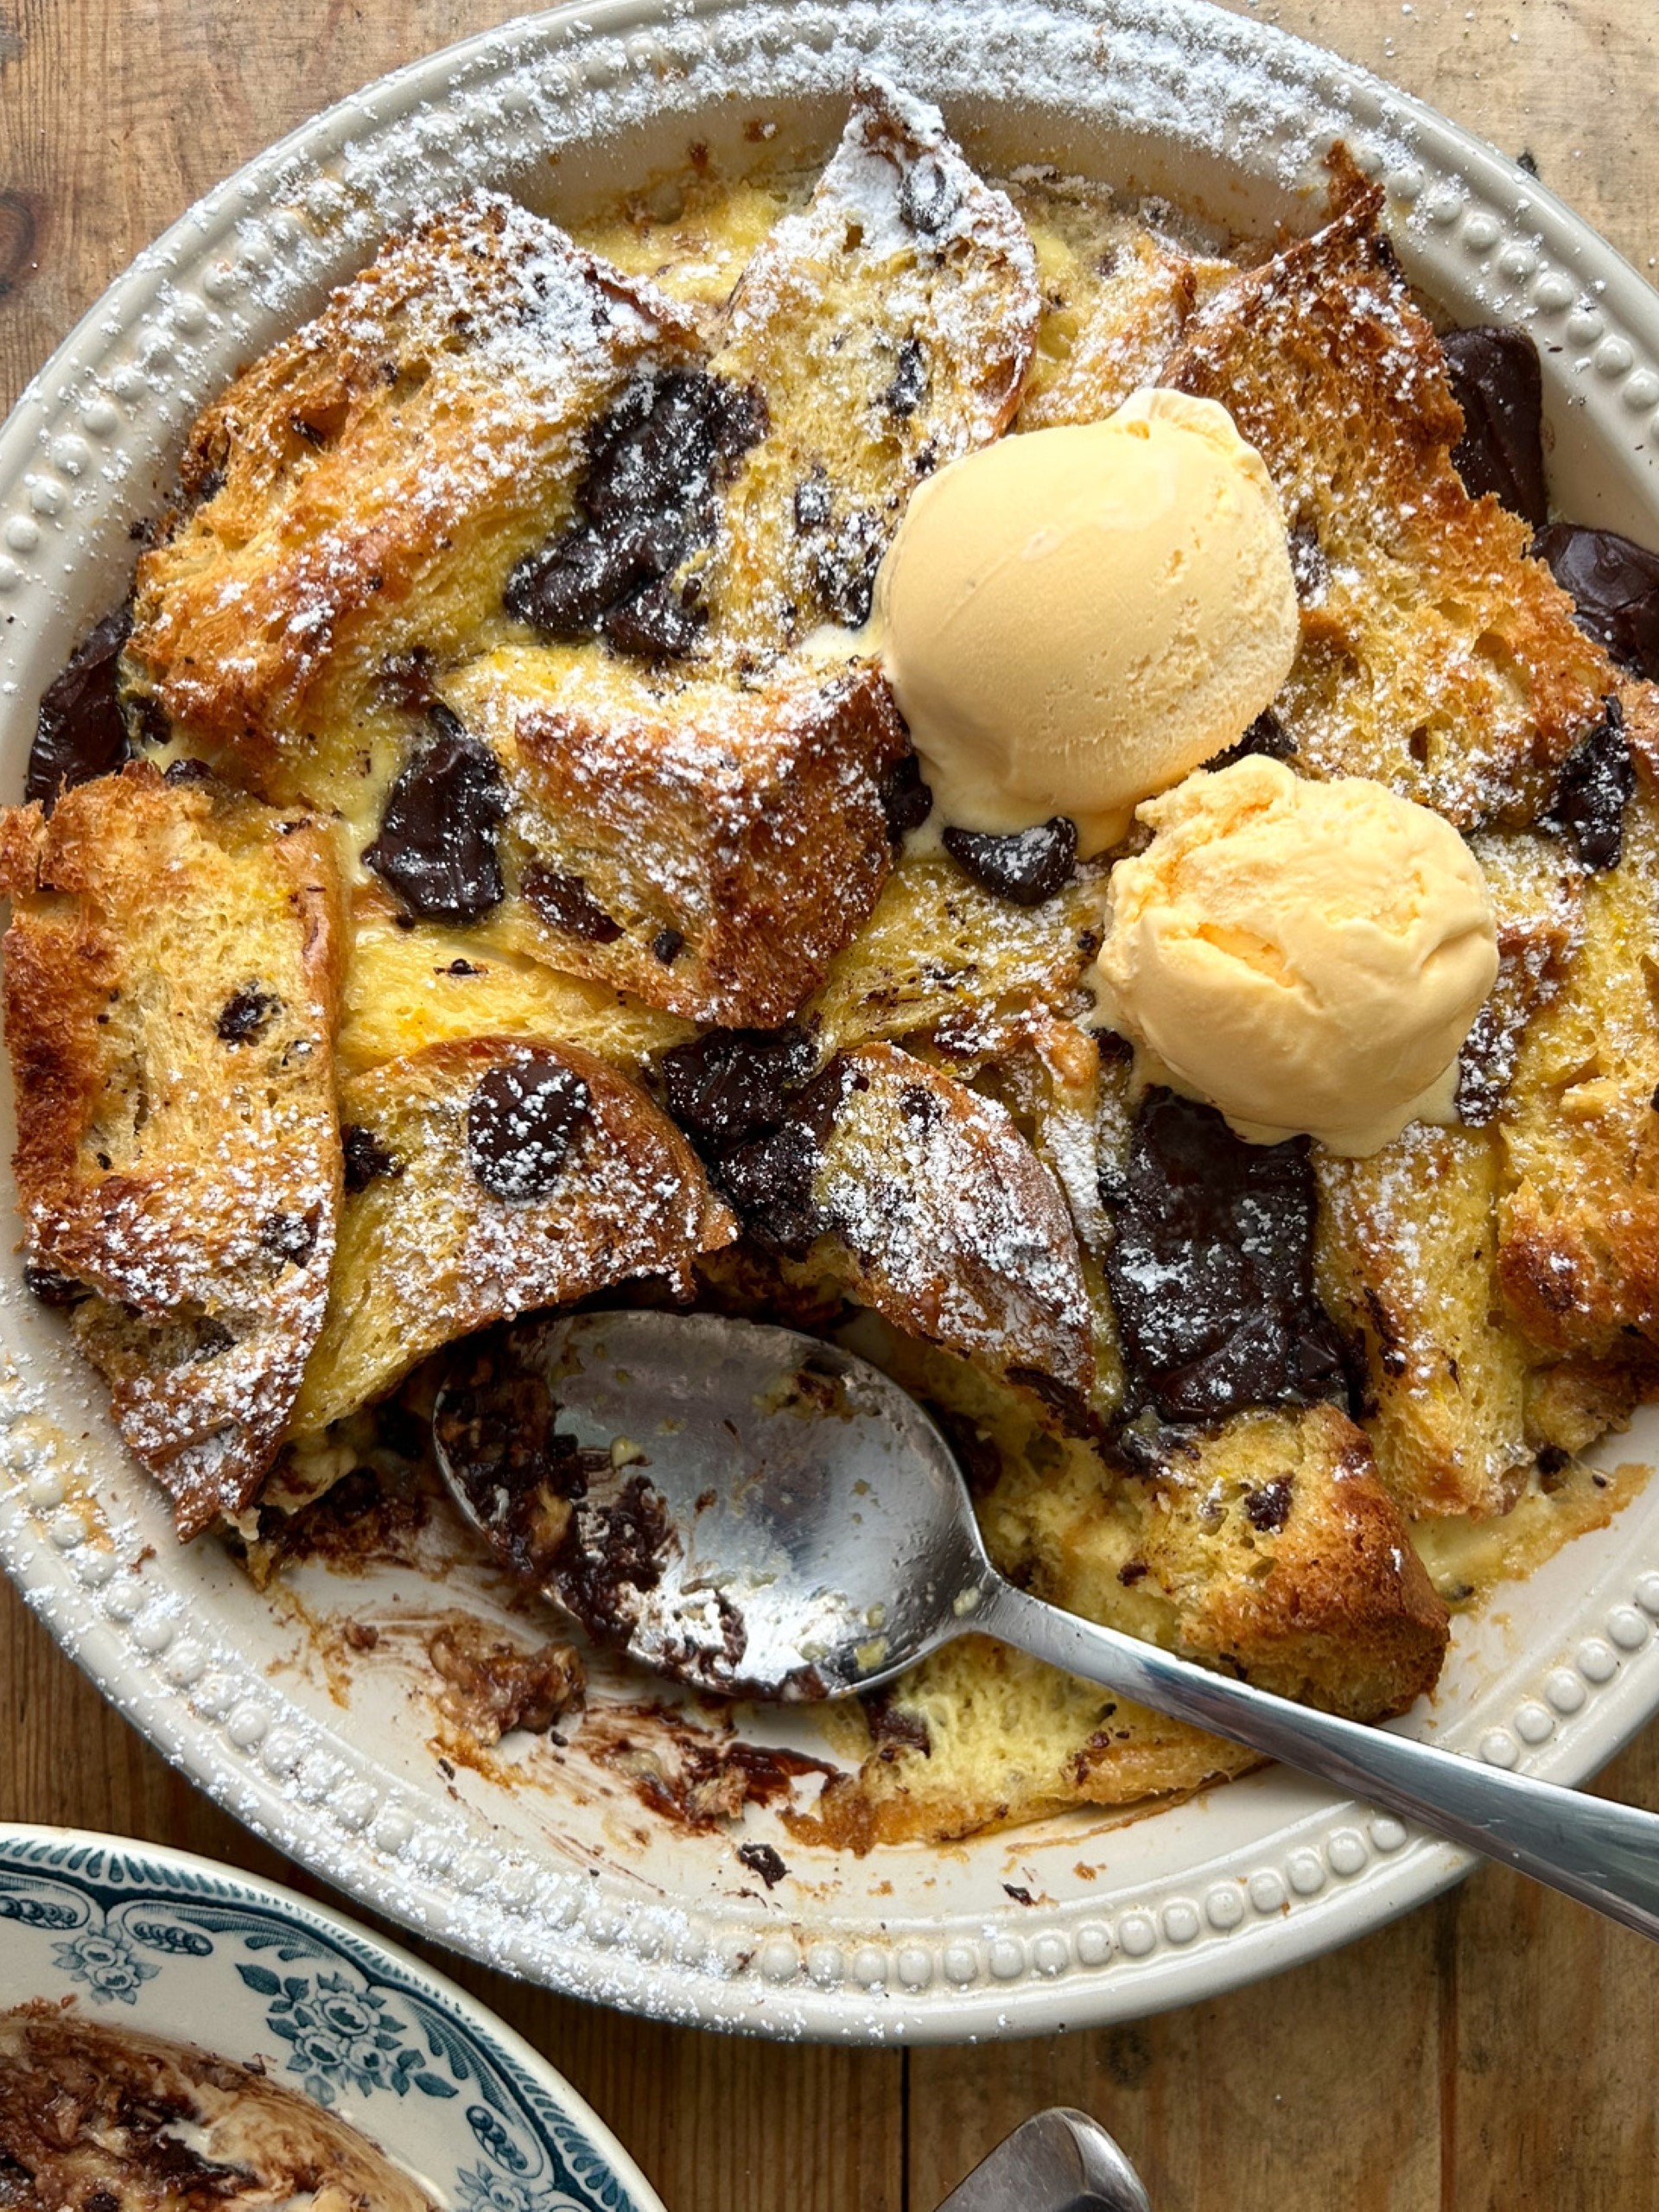
<path fill-rule="evenodd" d="M 0 2205 L 431 2212 L 403 2168 L 310 2097 L 44 2000 L 0 2015 Z"/>

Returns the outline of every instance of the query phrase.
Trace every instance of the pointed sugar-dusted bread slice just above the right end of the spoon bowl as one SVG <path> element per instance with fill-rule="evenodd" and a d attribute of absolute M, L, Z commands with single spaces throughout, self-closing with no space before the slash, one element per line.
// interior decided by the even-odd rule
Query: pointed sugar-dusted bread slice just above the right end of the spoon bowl
<path fill-rule="evenodd" d="M 894 1044 L 834 1060 L 816 1104 L 825 1265 L 894 1327 L 1082 1418 L 1095 1352 L 1077 1237 L 1006 1108 Z"/>

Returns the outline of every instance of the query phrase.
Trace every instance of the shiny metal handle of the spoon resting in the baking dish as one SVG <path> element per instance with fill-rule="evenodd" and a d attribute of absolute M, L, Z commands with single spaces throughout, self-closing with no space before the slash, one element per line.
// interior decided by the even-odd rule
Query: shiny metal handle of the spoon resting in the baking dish
<path fill-rule="evenodd" d="M 1354 1790 L 1639 1936 L 1659 1938 L 1659 1814 L 1294 1705 L 1117 1628 L 1082 1621 L 1002 1579 L 987 1588 L 971 1626 L 1155 1712 Z"/>

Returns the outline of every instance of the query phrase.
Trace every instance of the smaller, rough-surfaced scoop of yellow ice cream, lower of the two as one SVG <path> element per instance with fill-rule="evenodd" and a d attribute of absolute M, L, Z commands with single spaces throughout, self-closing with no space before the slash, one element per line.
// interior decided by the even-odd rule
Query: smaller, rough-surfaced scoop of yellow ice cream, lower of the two
<path fill-rule="evenodd" d="M 1091 980 L 1141 1073 L 1241 1137 L 1376 1152 L 1447 1119 L 1498 973 L 1480 865 L 1440 814 L 1367 776 L 1243 759 L 1139 810 Z"/>

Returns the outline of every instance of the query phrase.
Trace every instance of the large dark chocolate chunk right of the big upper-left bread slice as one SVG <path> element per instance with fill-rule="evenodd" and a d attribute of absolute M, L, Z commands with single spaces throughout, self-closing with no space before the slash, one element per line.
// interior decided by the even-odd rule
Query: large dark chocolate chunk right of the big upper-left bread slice
<path fill-rule="evenodd" d="M 714 535 L 719 493 L 765 436 L 765 400 L 706 369 L 635 378 L 588 438 L 577 518 L 507 580 L 507 613 L 544 637 L 604 633 L 622 653 L 681 659 L 701 622 L 668 580 Z"/>

